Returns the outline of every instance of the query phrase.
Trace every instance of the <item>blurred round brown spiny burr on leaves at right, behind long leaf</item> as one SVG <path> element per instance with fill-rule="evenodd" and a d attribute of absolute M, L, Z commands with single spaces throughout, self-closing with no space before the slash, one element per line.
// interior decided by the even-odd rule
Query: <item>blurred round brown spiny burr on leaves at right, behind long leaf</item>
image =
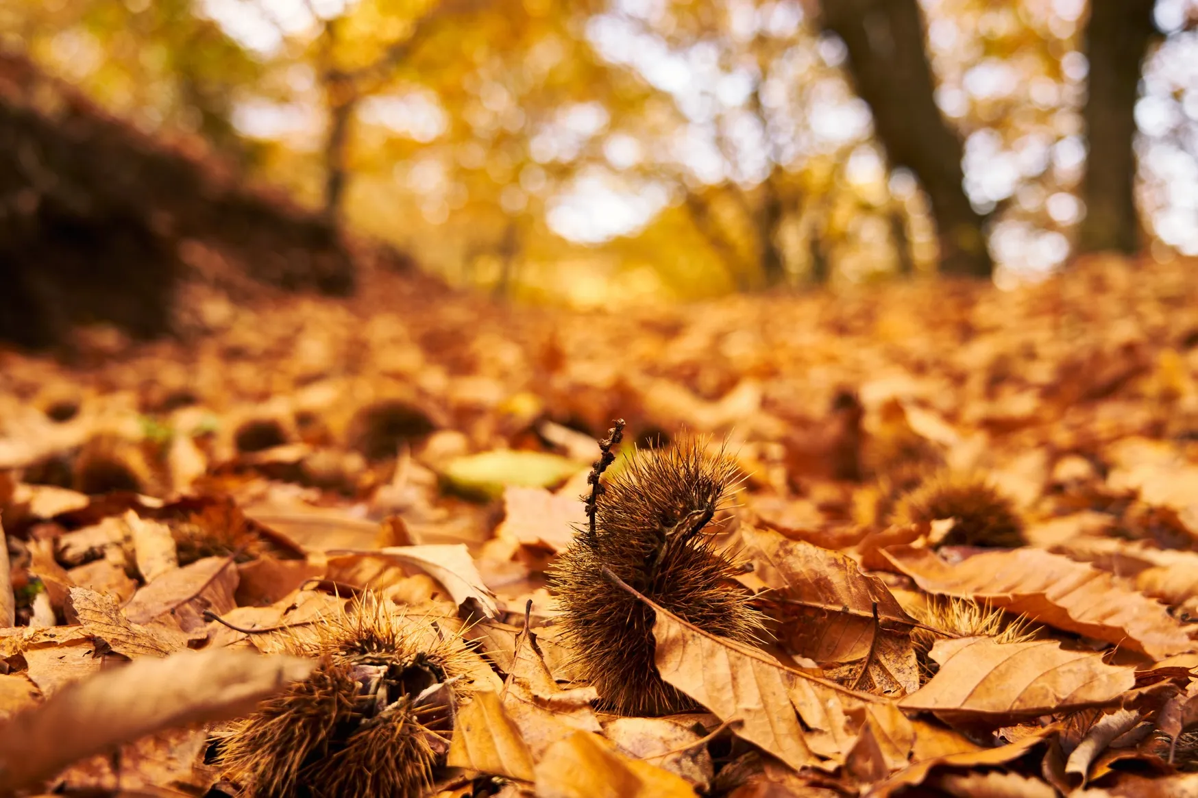
<path fill-rule="evenodd" d="M 891 524 L 956 519 L 939 542 L 946 546 L 1014 549 L 1023 545 L 1023 519 L 1011 501 L 979 474 L 946 472 L 898 500 Z"/>

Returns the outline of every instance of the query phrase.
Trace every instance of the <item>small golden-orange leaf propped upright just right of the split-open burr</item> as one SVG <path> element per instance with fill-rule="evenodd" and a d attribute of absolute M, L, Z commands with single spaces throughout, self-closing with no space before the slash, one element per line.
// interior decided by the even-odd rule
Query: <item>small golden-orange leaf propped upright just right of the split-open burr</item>
<path fill-rule="evenodd" d="M 446 764 L 520 781 L 536 778 L 532 754 L 520 730 L 503 712 L 500 696 L 491 690 L 476 693 L 474 699 L 458 712 Z"/>

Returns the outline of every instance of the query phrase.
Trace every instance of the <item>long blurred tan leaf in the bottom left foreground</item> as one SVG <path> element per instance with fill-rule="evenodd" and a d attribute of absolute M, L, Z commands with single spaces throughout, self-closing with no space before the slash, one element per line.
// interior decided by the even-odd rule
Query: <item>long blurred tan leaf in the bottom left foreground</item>
<path fill-rule="evenodd" d="M 295 657 L 179 652 L 72 684 L 0 726 L 0 791 L 163 729 L 235 718 L 311 667 Z"/>

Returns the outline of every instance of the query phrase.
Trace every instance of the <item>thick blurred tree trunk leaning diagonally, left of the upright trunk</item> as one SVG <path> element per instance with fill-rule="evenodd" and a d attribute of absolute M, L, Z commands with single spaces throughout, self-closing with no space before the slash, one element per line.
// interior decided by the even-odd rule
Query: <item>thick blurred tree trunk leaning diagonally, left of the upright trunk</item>
<path fill-rule="evenodd" d="M 990 277 L 985 218 L 966 197 L 961 139 L 936 107 L 918 0 L 822 0 L 821 7 L 824 28 L 848 48 L 849 72 L 891 165 L 910 169 L 927 192 L 940 271 Z"/>

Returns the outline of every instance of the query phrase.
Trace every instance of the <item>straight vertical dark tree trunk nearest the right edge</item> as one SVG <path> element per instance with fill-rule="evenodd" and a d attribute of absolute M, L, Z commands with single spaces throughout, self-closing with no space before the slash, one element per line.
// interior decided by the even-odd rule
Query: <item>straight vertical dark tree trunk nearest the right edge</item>
<path fill-rule="evenodd" d="M 1094 0 L 1085 29 L 1089 96 L 1082 109 L 1090 153 L 1082 181 L 1079 252 L 1139 249 L 1136 213 L 1136 89 L 1156 35 L 1154 0 Z"/>

